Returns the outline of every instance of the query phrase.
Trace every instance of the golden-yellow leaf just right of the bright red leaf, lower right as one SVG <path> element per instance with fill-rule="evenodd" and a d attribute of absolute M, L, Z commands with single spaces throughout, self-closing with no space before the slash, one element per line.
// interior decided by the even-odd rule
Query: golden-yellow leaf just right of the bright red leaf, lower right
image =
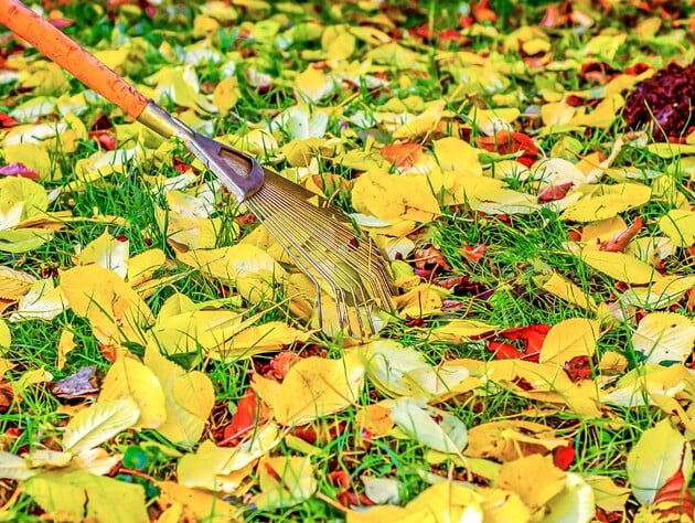
<path fill-rule="evenodd" d="M 570 318 L 553 325 L 548 331 L 538 361 L 564 366 L 575 356 L 588 356 L 596 352 L 601 322 L 584 318 Z"/>

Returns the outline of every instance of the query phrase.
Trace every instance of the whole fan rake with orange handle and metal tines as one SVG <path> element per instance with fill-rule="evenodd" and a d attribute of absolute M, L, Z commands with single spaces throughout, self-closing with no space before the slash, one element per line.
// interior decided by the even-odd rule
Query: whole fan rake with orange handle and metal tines
<path fill-rule="evenodd" d="M 320 324 L 328 291 L 341 329 L 352 335 L 376 331 L 374 311 L 393 308 L 395 289 L 378 248 L 371 238 L 356 235 L 345 214 L 325 202 L 312 204 L 313 193 L 253 157 L 194 132 L 20 1 L 0 0 L 0 23 L 132 118 L 164 138 L 178 138 L 311 279 Z"/>

